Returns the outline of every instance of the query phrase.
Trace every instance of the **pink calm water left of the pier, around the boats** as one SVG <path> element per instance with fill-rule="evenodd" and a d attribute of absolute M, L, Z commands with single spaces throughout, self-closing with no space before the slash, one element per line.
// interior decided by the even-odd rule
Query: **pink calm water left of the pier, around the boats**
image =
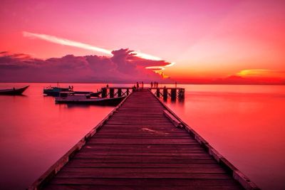
<path fill-rule="evenodd" d="M 0 83 L 1 89 L 11 85 L 26 84 Z M 23 96 L 0 96 L 0 189 L 26 189 L 113 110 L 58 105 L 54 97 L 43 96 L 43 86 L 50 84 L 30 85 Z M 102 85 L 73 86 L 95 91 Z"/>

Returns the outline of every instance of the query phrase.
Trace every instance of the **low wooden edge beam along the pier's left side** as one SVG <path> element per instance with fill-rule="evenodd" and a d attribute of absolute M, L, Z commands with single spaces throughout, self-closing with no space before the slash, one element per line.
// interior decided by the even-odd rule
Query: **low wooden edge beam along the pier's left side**
<path fill-rule="evenodd" d="M 133 92 L 132 92 L 133 93 Z M 95 127 L 93 127 L 92 130 L 90 130 L 90 132 L 88 132 L 78 143 L 76 143 L 71 149 L 68 150 L 68 152 L 66 152 L 66 154 L 64 154 L 60 159 L 58 159 L 58 161 L 56 161 L 55 164 L 53 164 L 51 167 L 48 168 L 47 171 L 45 171 L 38 179 L 36 179 L 36 181 L 33 182 L 33 184 L 31 184 L 31 186 L 28 186 L 28 190 L 38 190 L 41 189 L 41 187 L 43 187 L 44 184 L 46 184 L 49 180 L 51 180 L 51 178 L 53 178 L 53 176 L 55 176 L 58 171 L 61 170 L 61 168 L 64 167 L 64 165 L 69 161 L 69 159 L 71 159 L 76 152 L 78 152 L 84 144 L 86 144 L 86 142 L 88 141 L 88 139 L 90 139 L 91 137 L 93 137 L 93 135 L 100 130 L 100 127 L 102 127 L 105 122 L 112 116 L 114 115 L 114 113 L 123 105 L 123 102 L 125 102 L 125 100 L 128 99 L 128 97 L 130 97 L 130 95 L 132 95 L 132 93 L 130 93 L 129 95 L 127 95 L 125 97 L 125 99 L 120 102 L 119 105 L 117 105 L 114 110 L 112 110 L 106 117 L 104 117 L 104 119 L 102 121 L 100 121 L 98 123 L 98 125 L 96 125 Z"/>

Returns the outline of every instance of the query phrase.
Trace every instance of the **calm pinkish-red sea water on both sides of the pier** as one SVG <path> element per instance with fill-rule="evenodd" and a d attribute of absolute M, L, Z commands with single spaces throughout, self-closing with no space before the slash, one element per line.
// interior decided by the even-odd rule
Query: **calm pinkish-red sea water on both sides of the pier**
<path fill-rule="evenodd" d="M 55 84 L 30 85 L 24 96 L 0 96 L 1 189 L 25 189 L 113 110 L 56 105 L 42 94 Z M 105 84 L 66 85 L 95 91 Z M 262 189 L 285 189 L 285 86 L 179 87 L 186 88 L 185 101 L 167 105 L 182 120 Z"/>

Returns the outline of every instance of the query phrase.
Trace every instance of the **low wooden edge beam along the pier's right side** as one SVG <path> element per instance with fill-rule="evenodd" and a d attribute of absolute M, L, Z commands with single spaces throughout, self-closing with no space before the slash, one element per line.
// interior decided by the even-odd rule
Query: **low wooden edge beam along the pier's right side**
<path fill-rule="evenodd" d="M 187 130 L 187 132 L 189 132 L 189 134 L 194 137 L 197 142 L 199 142 L 199 144 L 202 145 L 202 147 L 212 156 L 214 157 L 214 159 L 218 162 L 218 164 L 220 164 L 224 169 L 227 170 L 227 172 L 229 172 L 229 174 L 232 175 L 232 177 L 237 180 L 239 182 L 239 184 L 241 184 L 244 189 L 247 190 L 260 190 L 260 188 L 254 184 L 253 181 L 251 181 L 246 175 L 244 175 L 242 173 L 242 171 L 239 171 L 239 169 L 237 169 L 236 167 L 234 167 L 234 165 L 232 163 L 230 163 L 225 157 L 222 156 L 222 154 L 219 154 L 219 152 L 214 149 L 214 147 L 212 147 L 204 138 L 202 138 L 197 132 L 195 132 L 195 130 L 192 129 L 192 127 L 190 127 L 189 125 L 187 125 L 187 123 L 183 122 L 183 120 L 180 119 L 180 117 L 178 117 L 175 112 L 173 112 L 172 110 L 170 110 L 169 107 L 167 107 L 167 105 L 165 105 L 164 102 L 162 102 L 162 100 L 160 100 L 159 97 L 156 97 L 150 90 L 150 93 L 157 98 L 157 100 L 159 100 L 160 104 L 165 107 L 165 110 L 167 110 L 167 112 L 170 112 L 170 114 L 175 117 L 175 119 L 180 122 L 180 123 L 174 123 L 175 126 L 179 125 L 179 127 L 185 127 L 185 130 Z M 167 114 L 167 113 L 165 113 Z M 167 116 L 166 116 L 167 117 Z M 168 117 L 169 118 L 169 117 Z M 170 119 L 172 121 L 172 119 Z M 175 121 L 175 122 L 177 122 Z M 173 121 L 172 121 L 173 122 Z"/>

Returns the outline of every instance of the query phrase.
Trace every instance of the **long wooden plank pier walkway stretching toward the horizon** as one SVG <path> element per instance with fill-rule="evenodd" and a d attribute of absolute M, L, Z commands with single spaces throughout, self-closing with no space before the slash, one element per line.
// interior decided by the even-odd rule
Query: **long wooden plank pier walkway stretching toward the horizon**
<path fill-rule="evenodd" d="M 130 93 L 29 189 L 258 189 L 150 90 Z"/>

